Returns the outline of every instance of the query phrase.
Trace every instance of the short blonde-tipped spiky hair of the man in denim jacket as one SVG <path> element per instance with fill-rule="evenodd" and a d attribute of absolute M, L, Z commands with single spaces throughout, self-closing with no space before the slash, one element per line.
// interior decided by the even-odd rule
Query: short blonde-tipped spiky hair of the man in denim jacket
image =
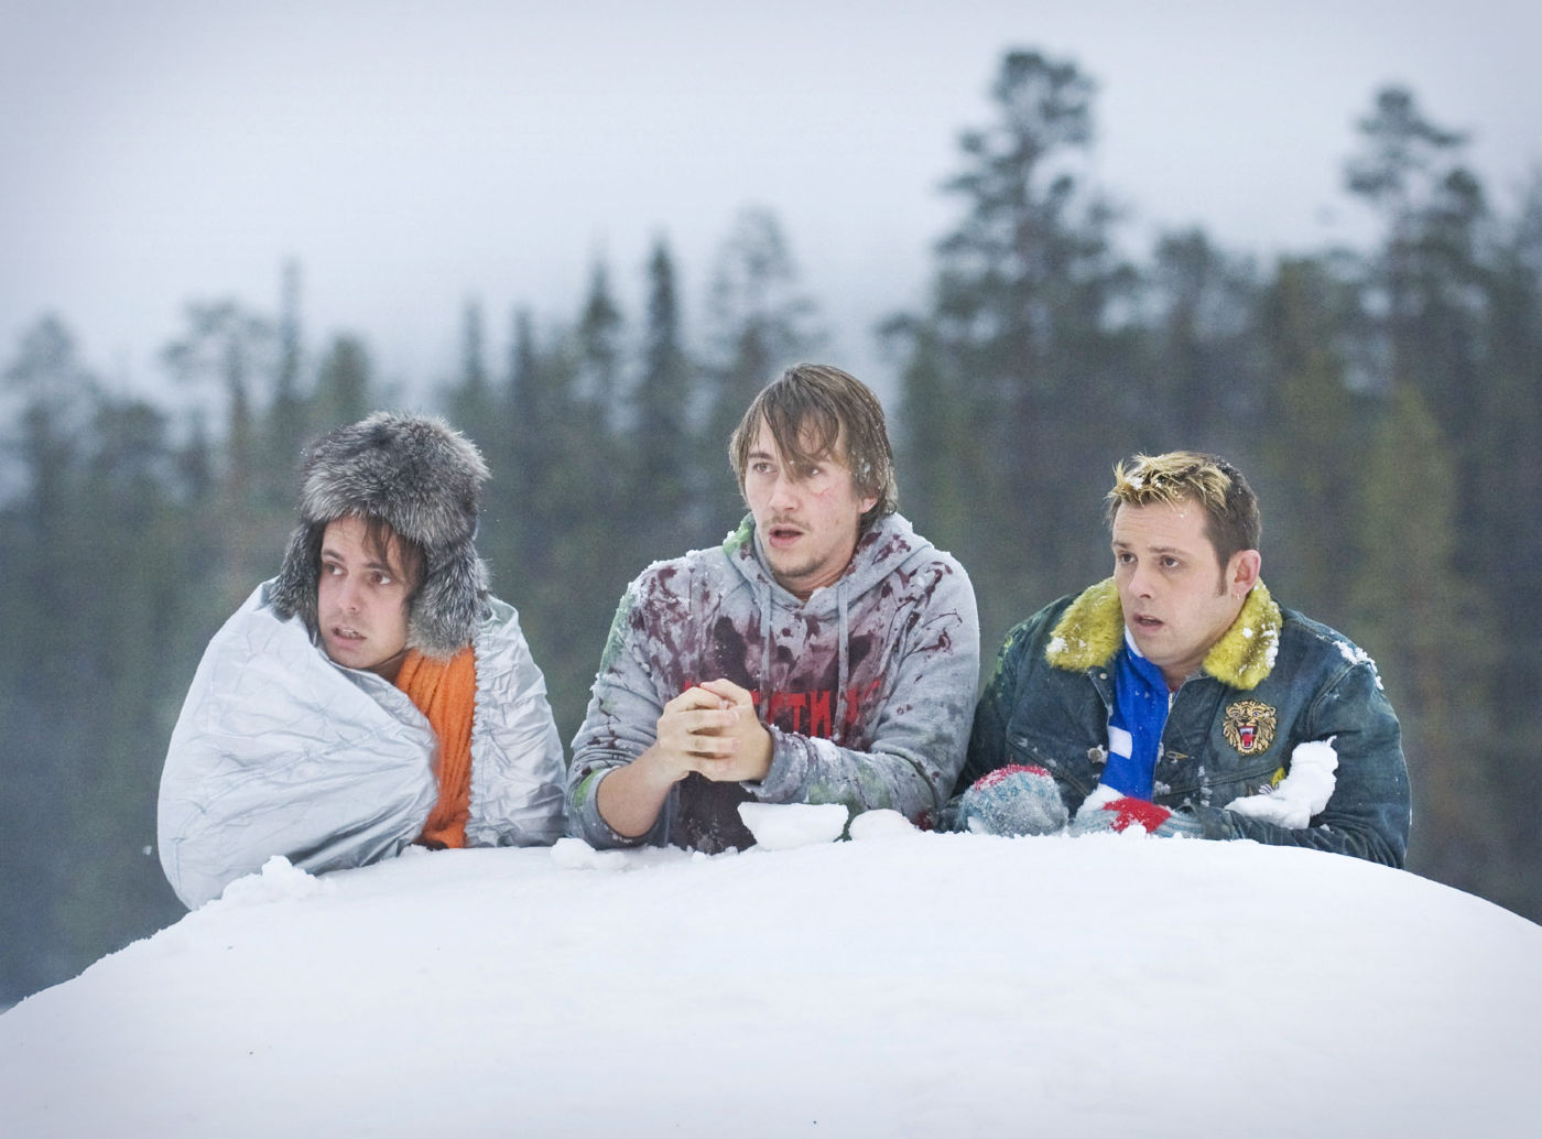
<path fill-rule="evenodd" d="M 1243 473 L 1220 455 L 1133 455 L 1113 465 L 1113 490 L 1107 495 L 1110 526 L 1121 506 L 1156 502 L 1197 502 L 1204 510 L 1204 532 L 1221 566 L 1238 550 L 1258 549 L 1263 536 L 1258 499 Z"/>

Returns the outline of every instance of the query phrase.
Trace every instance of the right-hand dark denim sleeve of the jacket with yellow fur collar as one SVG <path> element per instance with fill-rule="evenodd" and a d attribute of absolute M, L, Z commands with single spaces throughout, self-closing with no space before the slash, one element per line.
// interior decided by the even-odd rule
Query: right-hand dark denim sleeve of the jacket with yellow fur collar
<path fill-rule="evenodd" d="M 1332 740 L 1338 755 L 1328 806 L 1303 829 L 1291 829 L 1217 806 L 1187 811 L 1206 838 L 1254 838 L 1274 846 L 1308 846 L 1402 866 L 1408 854 L 1411 798 L 1402 732 L 1382 692 L 1375 666 L 1346 667 L 1312 701 L 1306 740 Z"/>

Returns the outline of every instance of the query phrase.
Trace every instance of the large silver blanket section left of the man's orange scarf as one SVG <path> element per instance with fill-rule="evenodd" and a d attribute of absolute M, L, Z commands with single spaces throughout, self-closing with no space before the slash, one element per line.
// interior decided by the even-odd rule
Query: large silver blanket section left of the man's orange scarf
<path fill-rule="evenodd" d="M 396 854 L 438 795 L 412 701 L 332 664 L 261 596 L 204 652 L 160 777 L 160 865 L 190 908 L 276 854 L 311 872 Z"/>

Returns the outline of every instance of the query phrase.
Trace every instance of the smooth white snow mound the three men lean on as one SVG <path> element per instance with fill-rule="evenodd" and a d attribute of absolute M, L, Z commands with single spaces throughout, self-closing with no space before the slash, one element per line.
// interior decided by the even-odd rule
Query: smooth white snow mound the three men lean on
<path fill-rule="evenodd" d="M 270 863 L 0 1016 L 0 1131 L 1536 1133 L 1542 926 L 1497 906 L 1243 842 L 856 834 Z"/>

